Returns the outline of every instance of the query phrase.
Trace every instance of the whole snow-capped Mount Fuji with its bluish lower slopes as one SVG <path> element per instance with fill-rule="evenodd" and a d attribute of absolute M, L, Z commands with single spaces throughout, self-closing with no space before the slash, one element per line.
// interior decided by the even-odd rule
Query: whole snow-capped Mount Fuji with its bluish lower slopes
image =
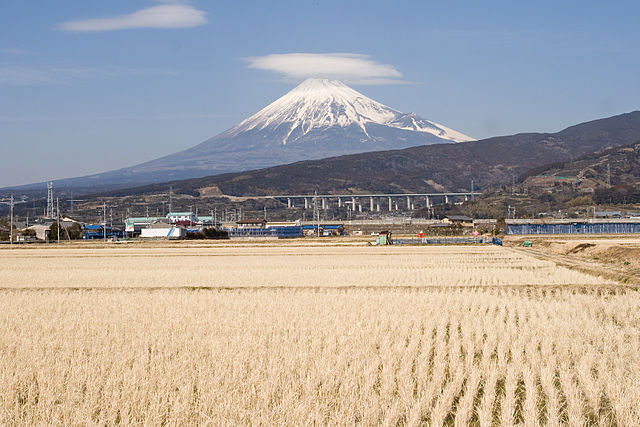
<path fill-rule="evenodd" d="M 472 140 L 414 113 L 387 107 L 342 82 L 311 78 L 233 128 L 192 148 L 124 169 L 58 180 L 56 186 L 133 186 Z"/>

